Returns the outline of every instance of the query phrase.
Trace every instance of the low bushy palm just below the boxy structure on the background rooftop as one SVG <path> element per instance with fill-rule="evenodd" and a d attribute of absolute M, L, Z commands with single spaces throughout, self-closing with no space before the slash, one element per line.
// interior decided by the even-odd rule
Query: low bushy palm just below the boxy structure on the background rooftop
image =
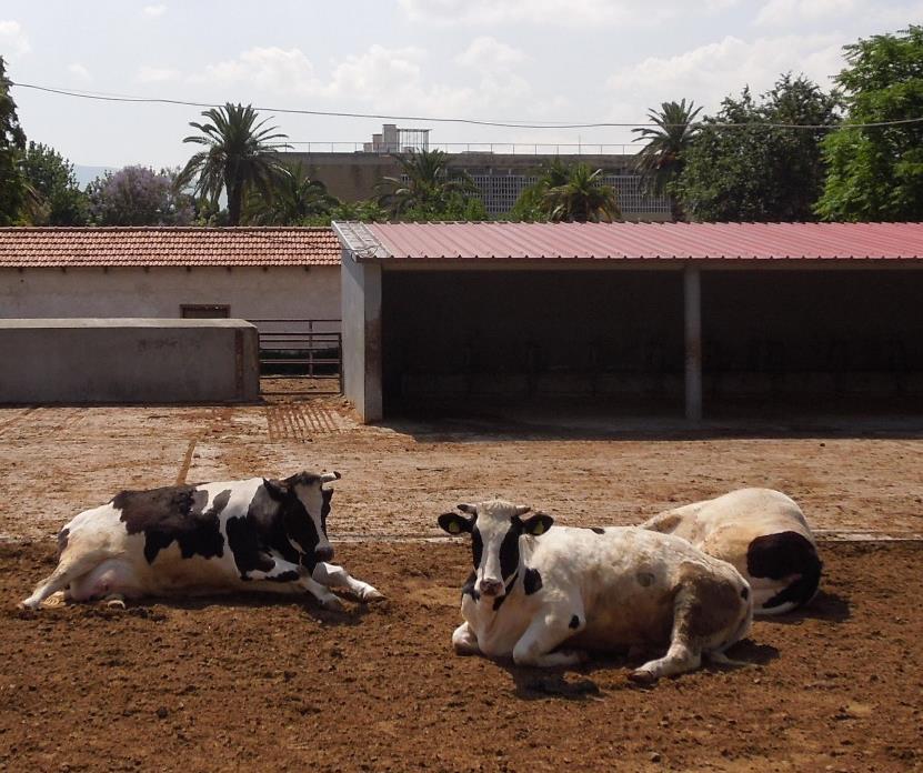
<path fill-rule="evenodd" d="M 392 218 L 400 218 L 408 210 L 439 214 L 449 208 L 453 198 L 478 193 L 469 174 L 450 175 L 449 155 L 441 150 L 412 150 L 394 158 L 402 175 L 384 177 L 375 185 L 379 203 Z"/>

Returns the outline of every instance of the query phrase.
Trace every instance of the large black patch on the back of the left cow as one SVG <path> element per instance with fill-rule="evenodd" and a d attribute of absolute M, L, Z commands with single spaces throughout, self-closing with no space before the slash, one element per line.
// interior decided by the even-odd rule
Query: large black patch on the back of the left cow
<path fill-rule="evenodd" d="M 208 491 L 191 485 L 164 486 L 149 491 L 122 491 L 112 500 L 121 511 L 119 520 L 129 534 L 144 534 L 144 558 L 151 564 L 173 542 L 184 559 L 211 559 L 224 554 L 219 514 L 231 498 L 230 490 L 218 494 L 203 511 Z"/>

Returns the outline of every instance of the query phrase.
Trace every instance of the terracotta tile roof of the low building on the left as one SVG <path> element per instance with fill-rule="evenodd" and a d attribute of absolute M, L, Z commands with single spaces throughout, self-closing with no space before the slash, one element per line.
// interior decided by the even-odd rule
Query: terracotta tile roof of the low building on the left
<path fill-rule="evenodd" d="M 0 268 L 339 264 L 329 228 L 0 228 Z"/>

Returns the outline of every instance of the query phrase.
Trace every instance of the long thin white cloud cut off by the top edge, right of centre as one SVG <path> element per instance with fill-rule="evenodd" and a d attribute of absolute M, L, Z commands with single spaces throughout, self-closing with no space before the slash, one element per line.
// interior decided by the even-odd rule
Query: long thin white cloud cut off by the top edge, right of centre
<path fill-rule="evenodd" d="M 399 0 L 412 21 L 435 24 L 532 23 L 542 26 L 650 26 L 702 11 L 714 12 L 740 0 Z"/>

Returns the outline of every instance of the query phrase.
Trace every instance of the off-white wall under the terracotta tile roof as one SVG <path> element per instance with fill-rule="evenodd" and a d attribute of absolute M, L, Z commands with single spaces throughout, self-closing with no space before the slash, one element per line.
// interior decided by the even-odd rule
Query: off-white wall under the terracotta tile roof
<path fill-rule="evenodd" d="M 239 319 L 340 319 L 340 267 L 0 269 L 0 318 L 178 318 L 230 305 Z"/>

